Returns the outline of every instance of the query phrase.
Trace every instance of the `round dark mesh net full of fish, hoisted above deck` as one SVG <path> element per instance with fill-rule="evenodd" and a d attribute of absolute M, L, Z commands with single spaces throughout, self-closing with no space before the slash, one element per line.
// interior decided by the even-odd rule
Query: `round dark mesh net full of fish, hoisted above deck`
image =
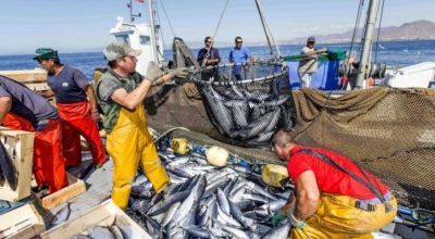
<path fill-rule="evenodd" d="M 277 128 L 291 128 L 288 72 L 276 63 L 222 65 L 194 76 L 219 133 L 243 144 L 265 144 Z"/>

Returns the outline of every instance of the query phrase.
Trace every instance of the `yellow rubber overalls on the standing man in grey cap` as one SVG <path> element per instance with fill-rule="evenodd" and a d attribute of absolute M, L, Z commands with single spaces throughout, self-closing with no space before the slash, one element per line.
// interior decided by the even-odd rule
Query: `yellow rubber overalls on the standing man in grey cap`
<path fill-rule="evenodd" d="M 114 164 L 112 200 L 122 210 L 127 207 L 138 165 L 158 193 L 170 183 L 148 131 L 142 104 L 134 111 L 121 108 L 116 124 L 108 135 L 107 149 Z"/>

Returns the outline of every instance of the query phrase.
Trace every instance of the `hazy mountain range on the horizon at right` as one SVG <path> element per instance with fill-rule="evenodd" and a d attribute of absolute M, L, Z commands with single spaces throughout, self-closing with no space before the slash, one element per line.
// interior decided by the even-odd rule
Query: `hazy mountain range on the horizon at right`
<path fill-rule="evenodd" d="M 377 36 L 377 28 L 375 29 L 375 38 Z M 316 41 L 321 43 L 340 43 L 350 42 L 352 39 L 353 30 L 341 34 L 315 35 Z M 362 28 L 358 29 L 357 41 L 360 41 Z M 390 40 L 427 40 L 435 39 L 435 23 L 426 20 L 415 21 L 411 23 L 403 23 L 400 26 L 388 26 L 381 28 L 382 41 Z M 298 37 L 290 40 L 284 40 L 279 43 L 304 43 L 307 37 Z"/>

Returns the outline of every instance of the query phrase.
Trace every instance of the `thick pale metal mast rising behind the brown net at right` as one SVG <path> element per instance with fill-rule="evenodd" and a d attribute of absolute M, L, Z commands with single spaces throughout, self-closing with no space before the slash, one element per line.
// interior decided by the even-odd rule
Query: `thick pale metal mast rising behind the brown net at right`
<path fill-rule="evenodd" d="M 357 83 L 353 89 L 361 89 L 365 79 L 368 66 L 370 64 L 370 51 L 372 49 L 373 32 L 376 25 L 377 10 L 380 0 L 371 0 L 369 5 L 369 16 L 366 17 L 365 33 L 362 42 L 360 65 L 358 67 Z"/>

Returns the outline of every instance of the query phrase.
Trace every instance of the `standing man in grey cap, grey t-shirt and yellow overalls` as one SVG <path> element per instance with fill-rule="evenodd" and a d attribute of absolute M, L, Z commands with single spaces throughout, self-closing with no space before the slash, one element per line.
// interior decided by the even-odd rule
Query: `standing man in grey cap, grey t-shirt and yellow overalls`
<path fill-rule="evenodd" d="M 144 77 L 135 71 L 136 56 L 140 53 L 121 42 L 107 46 L 104 55 L 109 68 L 97 85 L 97 100 L 108 134 L 107 149 L 114 163 L 112 200 L 123 210 L 127 207 L 138 165 L 156 192 L 163 191 L 170 183 L 148 131 L 144 99 L 157 84 L 188 77 L 187 68 L 178 67 L 163 74 L 153 62 L 149 63 Z"/>

